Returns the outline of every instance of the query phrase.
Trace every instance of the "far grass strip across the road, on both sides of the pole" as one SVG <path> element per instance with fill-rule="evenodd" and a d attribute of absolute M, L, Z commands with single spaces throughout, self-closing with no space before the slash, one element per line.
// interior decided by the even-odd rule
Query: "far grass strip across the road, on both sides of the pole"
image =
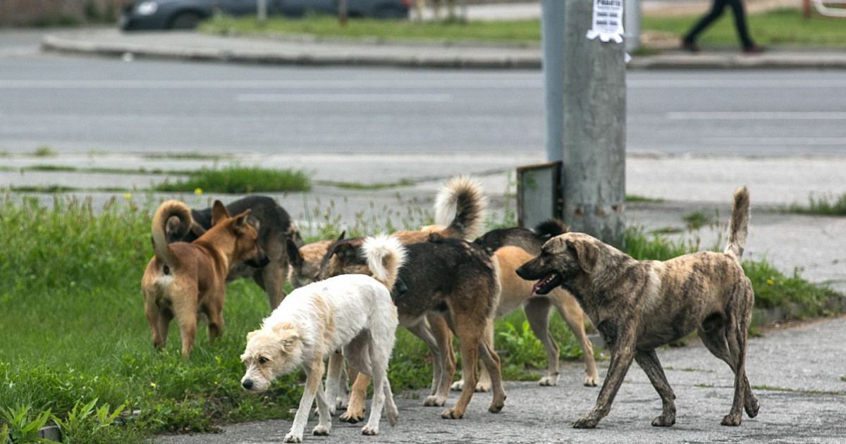
<path fill-rule="evenodd" d="M 641 30 L 657 31 L 679 39 L 700 15 L 678 17 L 645 16 Z M 739 41 L 732 25 L 731 14 L 706 30 L 700 37 L 704 45 L 738 47 Z M 798 8 L 786 8 L 762 14 L 749 14 L 749 27 L 755 41 L 766 46 L 798 45 L 846 47 L 846 33 L 842 20 L 814 16 L 808 19 Z M 217 17 L 201 24 L 200 29 L 213 34 L 296 34 L 318 37 L 343 36 L 376 39 L 421 39 L 437 41 L 494 41 L 537 43 L 541 40 L 538 19 L 416 23 L 409 20 L 350 19 L 346 26 L 330 16 L 309 16 L 306 19 L 272 17 L 265 25 L 255 18 Z M 638 55 L 649 55 L 645 49 Z"/>

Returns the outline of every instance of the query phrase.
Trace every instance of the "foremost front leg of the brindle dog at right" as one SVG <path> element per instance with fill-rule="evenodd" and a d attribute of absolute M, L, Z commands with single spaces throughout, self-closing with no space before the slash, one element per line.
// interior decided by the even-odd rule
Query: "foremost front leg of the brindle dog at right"
<path fill-rule="evenodd" d="M 576 419 L 573 423 L 575 429 L 593 429 L 599 424 L 600 419 L 607 416 L 611 410 L 611 403 L 617 396 L 620 385 L 623 384 L 626 372 L 629 371 L 629 366 L 634 359 L 634 332 L 636 327 L 627 325 L 628 330 L 624 332 L 618 331 L 619 327 L 609 321 L 603 321 L 596 326 L 609 344 L 611 362 L 608 365 L 608 373 L 602 383 L 599 397 L 596 398 L 596 406 L 585 416 Z"/>

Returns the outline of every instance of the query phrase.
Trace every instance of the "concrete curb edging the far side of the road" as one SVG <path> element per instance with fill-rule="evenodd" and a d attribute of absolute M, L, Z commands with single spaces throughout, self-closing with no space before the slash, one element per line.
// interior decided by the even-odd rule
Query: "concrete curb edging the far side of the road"
<path fill-rule="evenodd" d="M 238 38 L 238 37 L 233 37 Z M 293 40 L 304 39 L 303 36 Z M 261 39 L 268 40 L 268 39 Z M 272 39 L 271 39 L 272 40 Z M 356 52 L 356 47 L 365 43 L 380 46 L 381 43 L 350 43 L 344 51 L 283 52 L 267 50 L 222 49 L 219 47 L 150 46 L 127 42 L 106 42 L 74 39 L 49 35 L 41 41 L 46 52 L 96 55 L 121 58 L 130 53 L 134 58 L 175 59 L 216 63 L 246 63 L 296 66 L 387 66 L 399 68 L 447 68 L 447 69 L 540 69 L 541 52 L 538 50 L 524 55 L 475 54 L 474 47 L 467 46 L 460 55 L 384 53 L 367 54 Z M 420 42 L 415 45 L 421 46 Z M 435 44 L 435 47 L 442 46 Z M 654 56 L 636 56 L 629 62 L 629 69 L 846 69 L 846 52 L 765 52 L 747 56 L 739 52 L 689 54 L 674 52 Z"/>

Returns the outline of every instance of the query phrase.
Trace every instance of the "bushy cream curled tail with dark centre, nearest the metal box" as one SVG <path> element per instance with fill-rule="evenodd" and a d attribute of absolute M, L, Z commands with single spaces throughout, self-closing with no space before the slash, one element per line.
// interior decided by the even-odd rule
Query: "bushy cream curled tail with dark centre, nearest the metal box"
<path fill-rule="evenodd" d="M 448 237 L 474 238 L 485 219 L 487 199 L 470 176 L 450 178 L 435 198 L 435 223 L 448 227 Z M 454 217 L 450 219 L 453 215 Z"/>

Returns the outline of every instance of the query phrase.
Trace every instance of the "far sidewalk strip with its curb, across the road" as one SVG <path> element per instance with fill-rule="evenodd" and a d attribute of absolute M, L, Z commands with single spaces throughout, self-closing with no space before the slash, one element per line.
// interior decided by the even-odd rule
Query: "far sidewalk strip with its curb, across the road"
<path fill-rule="evenodd" d="M 212 36 L 193 31 L 123 33 L 114 29 L 57 31 L 41 47 L 48 52 L 102 57 L 168 58 L 220 63 L 355 65 L 430 68 L 540 69 L 537 45 L 486 42 L 420 42 L 316 39 L 311 36 Z M 755 55 L 739 51 L 691 54 L 667 49 L 635 56 L 629 69 L 846 69 L 846 51 L 771 49 Z"/>

